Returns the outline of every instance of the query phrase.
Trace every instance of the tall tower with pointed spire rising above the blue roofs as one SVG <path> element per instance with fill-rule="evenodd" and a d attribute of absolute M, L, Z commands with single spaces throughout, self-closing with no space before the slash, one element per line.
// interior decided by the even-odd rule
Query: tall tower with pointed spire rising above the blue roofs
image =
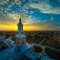
<path fill-rule="evenodd" d="M 19 23 L 18 23 L 18 34 L 16 35 L 16 45 L 19 48 L 26 45 L 26 36 L 23 33 L 23 24 L 21 20 L 22 19 L 20 17 Z"/>

